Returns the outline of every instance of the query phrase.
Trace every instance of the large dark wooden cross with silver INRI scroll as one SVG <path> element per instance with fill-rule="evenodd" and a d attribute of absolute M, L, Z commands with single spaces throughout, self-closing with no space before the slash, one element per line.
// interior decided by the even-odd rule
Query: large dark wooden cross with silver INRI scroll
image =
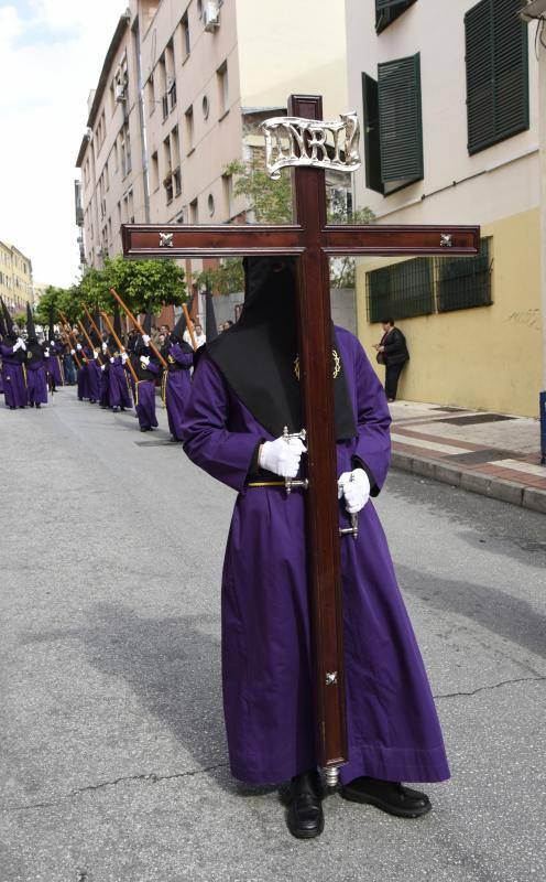
<path fill-rule="evenodd" d="M 299 118 L 299 122 L 321 120 L 323 99 L 314 95 L 292 95 L 288 115 Z M 337 126 L 342 128 L 341 123 Z M 336 130 L 336 126 L 331 128 Z M 348 760 L 348 749 L 328 259 L 346 255 L 476 255 L 480 230 L 470 226 L 328 224 L 324 171 L 328 165 L 326 136 L 320 133 L 320 125 L 312 125 L 302 136 L 303 130 L 305 126 L 302 129 L 294 123 L 295 146 L 284 154 L 281 139 L 276 139 L 277 159 L 281 158 L 277 165 L 293 166 L 293 224 L 128 224 L 122 235 L 123 252 L 129 258 L 292 255 L 297 259 L 301 383 L 308 445 L 306 508 L 317 753 L 332 783 L 337 767 Z M 354 140 L 353 126 L 343 151 L 336 141 L 336 168 L 343 161 L 346 168 L 350 168 L 347 148 Z M 354 155 L 353 151 L 353 160 Z M 305 158 L 310 164 L 303 164 Z"/>

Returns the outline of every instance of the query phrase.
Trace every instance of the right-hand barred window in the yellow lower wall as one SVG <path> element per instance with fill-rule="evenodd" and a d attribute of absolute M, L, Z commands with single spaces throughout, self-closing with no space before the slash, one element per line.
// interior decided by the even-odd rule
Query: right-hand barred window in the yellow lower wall
<path fill-rule="evenodd" d="M 438 312 L 491 305 L 491 268 L 489 239 L 477 257 L 438 260 Z"/>

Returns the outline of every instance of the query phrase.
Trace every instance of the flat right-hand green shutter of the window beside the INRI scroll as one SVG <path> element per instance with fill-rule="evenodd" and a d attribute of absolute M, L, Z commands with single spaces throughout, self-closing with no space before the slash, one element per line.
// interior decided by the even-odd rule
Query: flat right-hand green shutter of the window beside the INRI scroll
<path fill-rule="evenodd" d="M 392 193 L 424 174 L 419 54 L 378 65 L 378 88 L 381 176 Z"/>

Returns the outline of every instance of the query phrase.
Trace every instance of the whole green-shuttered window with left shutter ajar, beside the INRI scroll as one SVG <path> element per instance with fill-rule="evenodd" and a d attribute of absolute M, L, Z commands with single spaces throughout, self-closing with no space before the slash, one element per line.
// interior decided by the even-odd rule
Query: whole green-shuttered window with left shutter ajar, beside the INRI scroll
<path fill-rule="evenodd" d="M 367 184 L 389 195 L 424 175 L 418 53 L 378 65 L 363 88 Z"/>

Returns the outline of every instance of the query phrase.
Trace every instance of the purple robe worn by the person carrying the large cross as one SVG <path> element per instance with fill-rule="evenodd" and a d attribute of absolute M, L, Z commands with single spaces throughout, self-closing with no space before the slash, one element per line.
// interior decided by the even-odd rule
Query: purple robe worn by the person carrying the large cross
<path fill-rule="evenodd" d="M 337 443 L 337 472 L 356 455 L 378 486 L 390 464 L 390 415 L 357 338 L 336 329 L 358 422 Z M 249 487 L 260 426 L 205 354 L 194 375 L 184 449 L 237 498 L 222 578 L 222 679 L 229 755 L 236 777 L 267 784 L 317 764 L 312 707 L 309 609 L 303 491 Z M 350 526 L 342 502 L 340 526 Z M 385 781 L 449 777 L 441 731 L 389 547 L 372 502 L 357 541 L 341 541 L 349 763 Z"/>

